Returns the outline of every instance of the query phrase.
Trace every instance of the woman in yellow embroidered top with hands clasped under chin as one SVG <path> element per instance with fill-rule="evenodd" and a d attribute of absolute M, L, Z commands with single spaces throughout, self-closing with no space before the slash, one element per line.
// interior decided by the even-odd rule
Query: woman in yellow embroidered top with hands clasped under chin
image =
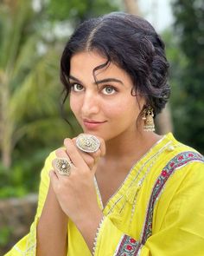
<path fill-rule="evenodd" d="M 48 156 L 30 233 L 6 255 L 204 255 L 204 158 L 154 132 L 168 68 L 138 16 L 80 25 L 61 81 L 84 134 Z"/>

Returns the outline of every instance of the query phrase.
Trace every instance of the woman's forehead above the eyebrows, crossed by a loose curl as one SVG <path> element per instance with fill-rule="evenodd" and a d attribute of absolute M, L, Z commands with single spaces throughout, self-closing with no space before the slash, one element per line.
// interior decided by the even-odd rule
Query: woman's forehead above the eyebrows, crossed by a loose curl
<path fill-rule="evenodd" d="M 104 56 L 99 55 L 96 51 L 83 51 L 72 56 L 70 61 L 70 75 L 77 77 L 93 77 L 93 69 L 107 62 Z M 120 69 L 116 64 L 111 62 L 103 69 L 98 69 L 95 72 L 97 78 L 103 77 L 115 77 L 124 80 L 130 80 L 129 75 Z"/>

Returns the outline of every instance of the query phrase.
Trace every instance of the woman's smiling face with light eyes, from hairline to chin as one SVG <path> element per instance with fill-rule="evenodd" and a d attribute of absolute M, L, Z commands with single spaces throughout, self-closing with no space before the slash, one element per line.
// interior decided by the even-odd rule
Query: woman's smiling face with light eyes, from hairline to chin
<path fill-rule="evenodd" d="M 72 83 L 70 107 L 84 133 L 108 141 L 127 132 L 136 132 L 143 100 L 131 95 L 130 76 L 112 62 L 95 72 L 96 85 L 93 69 L 105 62 L 106 59 L 94 51 L 74 55 L 69 81 Z"/>

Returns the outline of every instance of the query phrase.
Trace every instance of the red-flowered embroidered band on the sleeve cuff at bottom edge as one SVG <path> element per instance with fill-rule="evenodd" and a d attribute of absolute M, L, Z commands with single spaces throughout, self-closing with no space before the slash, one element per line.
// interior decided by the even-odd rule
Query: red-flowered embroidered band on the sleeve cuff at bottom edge
<path fill-rule="evenodd" d="M 141 243 L 125 234 L 114 256 L 137 256 L 141 246 Z"/>

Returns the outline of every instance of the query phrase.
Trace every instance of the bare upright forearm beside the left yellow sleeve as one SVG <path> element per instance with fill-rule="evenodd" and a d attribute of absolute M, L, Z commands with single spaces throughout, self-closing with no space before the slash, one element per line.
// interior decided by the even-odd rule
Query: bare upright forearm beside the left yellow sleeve
<path fill-rule="evenodd" d="M 67 215 L 51 185 L 37 226 L 36 256 L 47 255 L 67 255 Z"/>

